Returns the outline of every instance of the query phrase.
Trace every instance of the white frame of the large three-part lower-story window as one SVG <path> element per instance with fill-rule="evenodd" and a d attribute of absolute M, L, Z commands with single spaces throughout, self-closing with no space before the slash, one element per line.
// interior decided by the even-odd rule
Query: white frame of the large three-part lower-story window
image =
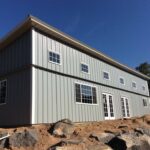
<path fill-rule="evenodd" d="M 77 102 L 76 101 L 76 84 L 79 84 L 80 85 L 80 94 L 81 94 L 81 101 L 82 101 L 82 92 L 81 92 L 81 85 L 85 85 L 85 86 L 90 86 L 91 87 L 91 89 L 94 87 L 94 88 L 96 88 L 96 103 L 93 103 L 93 97 L 92 97 L 92 103 L 83 103 L 83 102 Z M 91 84 L 87 84 L 87 83 L 81 83 L 81 82 L 74 82 L 74 96 L 75 96 L 75 103 L 77 104 L 77 105 L 99 105 L 99 103 L 98 103 L 98 94 L 97 94 L 97 87 L 96 86 L 93 86 L 93 85 L 91 85 Z M 93 94 L 93 93 L 92 93 Z"/>

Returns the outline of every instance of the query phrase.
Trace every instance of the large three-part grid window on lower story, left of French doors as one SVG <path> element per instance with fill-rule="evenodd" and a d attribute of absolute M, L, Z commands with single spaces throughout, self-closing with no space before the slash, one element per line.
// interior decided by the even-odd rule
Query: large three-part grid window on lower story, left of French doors
<path fill-rule="evenodd" d="M 76 102 L 97 104 L 96 87 L 75 83 Z"/>

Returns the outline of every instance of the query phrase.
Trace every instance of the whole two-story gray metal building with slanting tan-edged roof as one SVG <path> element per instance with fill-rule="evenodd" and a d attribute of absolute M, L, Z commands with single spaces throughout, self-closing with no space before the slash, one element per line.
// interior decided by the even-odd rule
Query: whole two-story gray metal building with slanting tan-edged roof
<path fill-rule="evenodd" d="M 0 126 L 149 114 L 148 80 L 29 16 L 0 41 Z"/>

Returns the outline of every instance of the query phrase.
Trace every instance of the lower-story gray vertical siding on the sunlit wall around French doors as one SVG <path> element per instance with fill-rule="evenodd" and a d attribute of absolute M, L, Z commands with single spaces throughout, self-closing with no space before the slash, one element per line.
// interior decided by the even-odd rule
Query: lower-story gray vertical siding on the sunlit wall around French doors
<path fill-rule="evenodd" d="M 104 120 L 102 93 L 113 95 L 115 118 L 122 117 L 121 96 L 126 96 L 129 99 L 131 116 L 150 113 L 150 106 L 143 107 L 142 96 L 128 92 L 91 84 L 41 69 L 35 69 L 35 81 L 35 123 L 55 122 L 62 118 L 70 118 L 75 122 Z M 96 86 L 98 104 L 77 104 L 75 82 Z"/>

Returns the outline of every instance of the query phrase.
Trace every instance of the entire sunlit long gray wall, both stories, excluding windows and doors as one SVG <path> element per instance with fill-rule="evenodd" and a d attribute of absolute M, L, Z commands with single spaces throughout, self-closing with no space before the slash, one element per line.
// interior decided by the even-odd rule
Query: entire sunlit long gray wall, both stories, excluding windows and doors
<path fill-rule="evenodd" d="M 144 107 L 142 101 L 149 96 L 146 80 L 36 30 L 32 30 L 32 42 L 32 123 L 49 123 L 62 118 L 75 122 L 104 120 L 102 93 L 113 95 L 115 118 L 122 118 L 121 97 L 129 100 L 130 116 L 150 113 L 150 106 Z M 60 64 L 49 62 L 49 51 L 60 54 Z M 89 74 L 81 72 L 82 62 L 88 64 Z M 109 72 L 110 80 L 103 78 L 103 71 Z M 125 79 L 125 85 L 119 83 L 119 77 Z M 132 81 L 137 88 L 132 87 Z M 96 86 L 97 105 L 76 103 L 75 82 Z"/>

